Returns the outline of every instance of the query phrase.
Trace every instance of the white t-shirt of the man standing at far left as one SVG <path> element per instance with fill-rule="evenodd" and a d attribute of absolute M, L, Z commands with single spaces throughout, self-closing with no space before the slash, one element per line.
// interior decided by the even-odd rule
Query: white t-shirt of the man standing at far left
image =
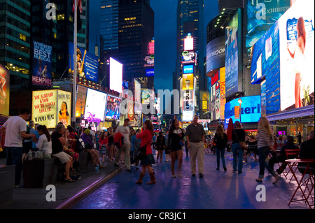
<path fill-rule="evenodd" d="M 5 147 L 22 147 L 21 131 L 27 131 L 27 122 L 20 116 L 10 117 L 3 124 L 6 128 Z"/>

